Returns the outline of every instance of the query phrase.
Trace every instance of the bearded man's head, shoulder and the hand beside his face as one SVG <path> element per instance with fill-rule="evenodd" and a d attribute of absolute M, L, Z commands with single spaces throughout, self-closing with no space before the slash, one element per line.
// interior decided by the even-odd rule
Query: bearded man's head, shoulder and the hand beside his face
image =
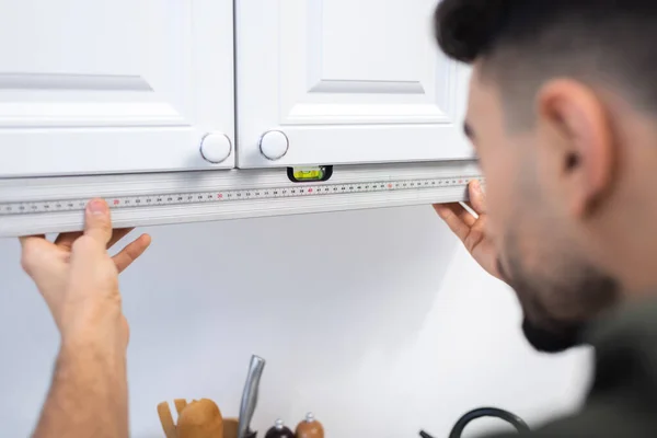
<path fill-rule="evenodd" d="M 657 3 L 443 0 L 471 64 L 465 132 L 486 178 L 436 206 L 508 283 L 538 349 L 596 347 L 584 411 L 538 436 L 657 436 Z M 655 37 L 655 38 L 653 38 Z"/>

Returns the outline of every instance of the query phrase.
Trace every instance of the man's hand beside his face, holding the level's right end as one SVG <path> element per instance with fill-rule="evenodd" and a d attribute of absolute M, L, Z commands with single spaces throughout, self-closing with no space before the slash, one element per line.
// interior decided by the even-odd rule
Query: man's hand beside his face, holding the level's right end
<path fill-rule="evenodd" d="M 470 183 L 469 192 L 470 203 L 468 205 L 476 212 L 479 218 L 472 216 L 459 203 L 437 204 L 434 208 L 438 212 L 438 216 L 445 220 L 447 226 L 463 242 L 473 258 L 488 274 L 504 280 L 497 267 L 498 252 L 493 241 L 486 235 L 486 199 L 479 181 Z"/>

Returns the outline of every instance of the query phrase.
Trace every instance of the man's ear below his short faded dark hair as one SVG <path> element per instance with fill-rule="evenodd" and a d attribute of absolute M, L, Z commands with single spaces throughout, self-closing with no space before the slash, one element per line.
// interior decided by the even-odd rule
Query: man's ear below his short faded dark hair
<path fill-rule="evenodd" d="M 574 80 L 549 82 L 537 104 L 541 123 L 560 139 L 550 147 L 560 154 L 569 210 L 590 215 L 613 183 L 614 140 L 606 107 L 590 88 Z"/>

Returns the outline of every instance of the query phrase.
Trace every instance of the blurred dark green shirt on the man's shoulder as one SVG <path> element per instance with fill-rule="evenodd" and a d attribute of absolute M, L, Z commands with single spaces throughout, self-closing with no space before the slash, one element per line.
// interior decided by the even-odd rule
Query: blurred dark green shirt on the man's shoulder
<path fill-rule="evenodd" d="M 657 438 L 657 299 L 623 307 L 589 325 L 595 378 L 579 413 L 514 437 Z"/>

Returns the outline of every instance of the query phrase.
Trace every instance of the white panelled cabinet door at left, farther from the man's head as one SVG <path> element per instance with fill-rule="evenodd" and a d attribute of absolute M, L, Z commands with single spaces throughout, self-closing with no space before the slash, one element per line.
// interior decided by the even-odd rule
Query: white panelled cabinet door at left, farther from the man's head
<path fill-rule="evenodd" d="M 0 176 L 232 168 L 232 11 L 0 1 Z"/>

